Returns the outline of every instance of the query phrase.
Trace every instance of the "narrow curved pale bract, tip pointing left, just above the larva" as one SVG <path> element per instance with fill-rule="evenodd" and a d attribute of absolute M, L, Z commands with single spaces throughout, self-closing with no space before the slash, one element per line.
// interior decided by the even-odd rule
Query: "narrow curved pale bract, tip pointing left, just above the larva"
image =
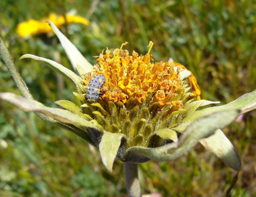
<path fill-rule="evenodd" d="M 34 60 L 39 60 L 44 63 L 47 63 L 46 65 L 49 66 L 50 68 L 52 68 L 52 70 L 55 70 L 56 72 L 60 73 L 62 76 L 68 78 L 69 80 L 74 82 L 76 84 L 76 86 L 78 86 L 78 84 L 81 83 L 80 77 L 77 76 L 76 73 L 72 72 L 71 70 L 69 70 L 68 68 L 62 66 L 61 64 L 59 64 L 57 62 L 54 62 L 52 60 L 49 60 L 49 59 L 46 59 L 43 57 L 31 55 L 31 54 L 22 55 L 20 57 L 20 60 L 24 59 L 24 58 L 32 58 Z"/>

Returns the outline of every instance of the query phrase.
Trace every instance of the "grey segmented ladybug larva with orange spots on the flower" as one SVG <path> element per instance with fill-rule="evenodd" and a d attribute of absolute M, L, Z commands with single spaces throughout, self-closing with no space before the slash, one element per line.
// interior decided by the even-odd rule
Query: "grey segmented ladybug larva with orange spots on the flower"
<path fill-rule="evenodd" d="M 89 87 L 86 90 L 86 95 L 85 97 L 87 98 L 88 102 L 96 102 L 96 100 L 99 99 L 99 92 L 105 92 L 105 91 L 100 91 L 101 87 L 103 84 L 106 82 L 106 79 L 103 75 L 96 75 L 91 79 L 89 82 Z"/>

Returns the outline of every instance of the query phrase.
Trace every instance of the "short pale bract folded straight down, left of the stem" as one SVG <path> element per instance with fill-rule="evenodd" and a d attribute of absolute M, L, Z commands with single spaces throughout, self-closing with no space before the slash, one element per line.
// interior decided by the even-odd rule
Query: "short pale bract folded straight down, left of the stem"
<path fill-rule="evenodd" d="M 101 142 L 99 143 L 101 159 L 106 169 L 108 169 L 110 172 L 112 172 L 113 163 L 122 138 L 125 138 L 125 135 L 105 132 L 101 138 Z"/>

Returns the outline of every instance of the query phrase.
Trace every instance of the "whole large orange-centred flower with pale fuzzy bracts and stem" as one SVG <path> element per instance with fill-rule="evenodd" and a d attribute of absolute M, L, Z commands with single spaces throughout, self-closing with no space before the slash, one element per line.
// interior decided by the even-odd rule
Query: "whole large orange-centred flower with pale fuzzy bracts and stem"
<path fill-rule="evenodd" d="M 218 102 L 200 100 L 195 77 L 183 65 L 153 63 L 152 42 L 145 55 L 123 50 L 127 43 L 115 50 L 106 49 L 92 66 L 52 22 L 49 24 L 76 73 L 35 55 L 26 54 L 20 59 L 40 60 L 69 78 L 76 85 L 77 92 L 73 93 L 81 106 L 59 100 L 55 103 L 64 109 L 55 109 L 33 100 L 2 40 L 1 55 L 25 98 L 12 93 L 0 93 L 0 98 L 26 112 L 35 112 L 99 148 L 109 171 L 118 157 L 124 162 L 129 196 L 140 196 L 138 163 L 174 160 L 198 142 L 232 169 L 241 170 L 236 149 L 220 129 L 239 114 L 256 108 L 256 90 L 227 105 L 207 107 Z M 86 99 L 86 92 L 98 99 Z"/>

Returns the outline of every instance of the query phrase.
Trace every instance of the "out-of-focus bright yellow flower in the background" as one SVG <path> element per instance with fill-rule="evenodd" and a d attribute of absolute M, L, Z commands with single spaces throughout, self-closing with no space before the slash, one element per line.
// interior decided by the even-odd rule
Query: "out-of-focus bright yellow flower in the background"
<path fill-rule="evenodd" d="M 66 18 L 66 20 L 65 20 Z M 28 21 L 21 22 L 17 25 L 16 32 L 19 34 L 20 37 L 26 37 L 28 35 L 35 35 L 39 33 L 49 33 L 52 32 L 52 28 L 48 23 L 45 23 L 46 20 L 52 21 L 58 28 L 61 25 L 70 23 L 82 23 L 84 25 L 89 25 L 90 22 L 81 16 L 76 16 L 67 13 L 64 16 L 57 16 L 55 13 L 50 13 L 49 17 L 42 18 L 42 20 L 34 20 L 29 19 Z"/>

